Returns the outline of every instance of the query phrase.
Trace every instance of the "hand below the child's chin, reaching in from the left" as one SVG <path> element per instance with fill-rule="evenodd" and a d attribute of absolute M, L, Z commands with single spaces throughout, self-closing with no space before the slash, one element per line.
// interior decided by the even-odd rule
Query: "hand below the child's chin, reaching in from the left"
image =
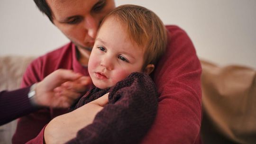
<path fill-rule="evenodd" d="M 36 84 L 32 103 L 36 106 L 68 108 L 81 96 L 91 78 L 71 70 L 59 69 Z"/>

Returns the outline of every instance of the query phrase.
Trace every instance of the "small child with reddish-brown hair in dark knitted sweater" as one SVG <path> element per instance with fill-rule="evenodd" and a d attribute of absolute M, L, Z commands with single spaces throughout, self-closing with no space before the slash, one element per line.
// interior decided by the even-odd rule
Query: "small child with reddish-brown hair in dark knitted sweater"
<path fill-rule="evenodd" d="M 94 86 L 75 108 L 107 93 L 109 104 L 69 143 L 77 139 L 88 144 L 140 142 L 157 111 L 157 91 L 148 75 L 166 43 L 165 26 L 146 8 L 119 6 L 103 19 L 88 63 Z"/>

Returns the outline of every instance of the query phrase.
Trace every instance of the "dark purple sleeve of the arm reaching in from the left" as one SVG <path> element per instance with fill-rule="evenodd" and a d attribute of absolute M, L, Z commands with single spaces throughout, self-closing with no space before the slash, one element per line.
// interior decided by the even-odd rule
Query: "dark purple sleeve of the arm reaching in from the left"
<path fill-rule="evenodd" d="M 0 92 L 0 125 L 37 110 L 27 98 L 29 88 Z"/>

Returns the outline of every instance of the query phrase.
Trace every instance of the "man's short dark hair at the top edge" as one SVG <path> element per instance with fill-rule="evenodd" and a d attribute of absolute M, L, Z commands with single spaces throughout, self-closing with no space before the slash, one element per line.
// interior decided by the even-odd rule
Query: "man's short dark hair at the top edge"
<path fill-rule="evenodd" d="M 53 23 L 53 16 L 52 11 L 50 7 L 48 6 L 46 0 L 34 0 L 34 2 L 37 5 L 37 8 L 50 19 L 50 21 Z"/>

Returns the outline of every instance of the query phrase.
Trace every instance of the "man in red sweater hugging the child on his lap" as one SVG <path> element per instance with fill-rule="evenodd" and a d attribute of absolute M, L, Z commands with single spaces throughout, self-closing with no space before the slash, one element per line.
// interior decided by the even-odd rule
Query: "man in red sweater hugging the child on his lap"
<path fill-rule="evenodd" d="M 58 27 L 71 43 L 39 57 L 28 68 L 22 85 L 40 81 L 57 68 L 71 69 L 88 75 L 88 58 L 101 20 L 115 8 L 114 0 L 34 0 L 37 7 Z M 168 45 L 165 55 L 156 64 L 152 78 L 160 93 L 155 123 L 143 144 L 200 144 L 201 65 L 186 33 L 179 27 L 166 26 Z M 88 88 L 89 86 L 85 87 Z M 84 91 L 79 89 L 78 91 Z M 67 111 L 44 109 L 18 121 L 14 144 L 23 144 L 37 136 L 49 121 Z M 92 116 L 98 111 L 91 111 Z M 76 111 L 73 111 L 73 114 Z M 41 116 L 38 119 L 38 116 Z M 87 115 L 88 116 L 88 115 Z M 93 119 L 93 118 L 92 118 Z M 69 123 L 65 121 L 75 120 Z M 29 123 L 31 128 L 26 126 Z M 54 123 L 54 125 L 53 125 Z M 68 114 L 51 121 L 46 131 L 55 130 L 65 136 L 72 124 L 83 123 Z M 65 124 L 65 131 L 61 128 Z M 26 128 L 26 135 L 24 129 Z M 81 127 L 82 128 L 82 127 Z M 59 132 L 58 132 L 59 131 Z M 44 134 L 44 129 L 40 135 Z M 46 132 L 45 132 L 46 134 Z M 49 135 L 44 135 L 45 137 Z"/>

